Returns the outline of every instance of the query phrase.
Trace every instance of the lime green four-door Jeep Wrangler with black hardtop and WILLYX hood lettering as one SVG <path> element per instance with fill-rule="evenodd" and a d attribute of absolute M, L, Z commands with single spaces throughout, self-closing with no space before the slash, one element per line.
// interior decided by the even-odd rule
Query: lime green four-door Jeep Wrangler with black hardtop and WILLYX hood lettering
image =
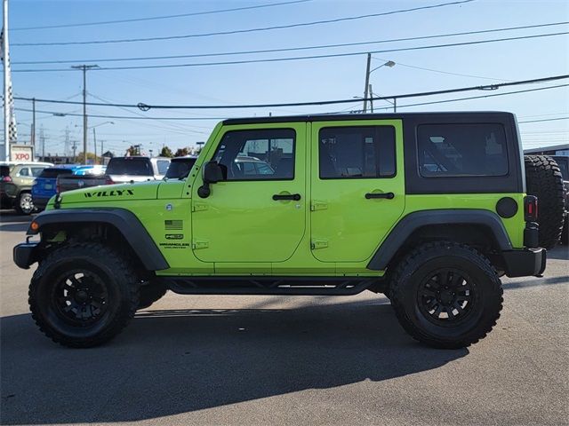
<path fill-rule="evenodd" d="M 496 324 L 502 275 L 544 271 L 536 222 L 513 114 L 230 119 L 188 177 L 52 198 L 13 257 L 39 264 L 32 316 L 67 346 L 108 341 L 167 290 L 371 290 L 415 339 L 460 348 Z"/>

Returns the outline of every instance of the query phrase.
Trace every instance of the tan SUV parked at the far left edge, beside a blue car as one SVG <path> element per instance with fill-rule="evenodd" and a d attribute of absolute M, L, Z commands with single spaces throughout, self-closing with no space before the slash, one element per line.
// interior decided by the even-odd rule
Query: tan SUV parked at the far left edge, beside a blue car
<path fill-rule="evenodd" d="M 34 211 L 32 185 L 51 162 L 0 162 L 0 204 L 3 209 L 16 209 L 21 215 Z"/>

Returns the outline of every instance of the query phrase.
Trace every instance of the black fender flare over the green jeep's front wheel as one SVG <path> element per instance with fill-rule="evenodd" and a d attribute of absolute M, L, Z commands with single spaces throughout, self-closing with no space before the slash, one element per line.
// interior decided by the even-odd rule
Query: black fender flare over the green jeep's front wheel
<path fill-rule="evenodd" d="M 134 253 L 148 271 L 168 269 L 170 265 L 157 248 L 156 242 L 132 211 L 127 209 L 54 209 L 37 215 L 28 228 L 28 235 L 40 233 L 42 227 L 51 224 L 64 223 L 104 223 L 116 227 L 119 233 L 128 241 Z"/>

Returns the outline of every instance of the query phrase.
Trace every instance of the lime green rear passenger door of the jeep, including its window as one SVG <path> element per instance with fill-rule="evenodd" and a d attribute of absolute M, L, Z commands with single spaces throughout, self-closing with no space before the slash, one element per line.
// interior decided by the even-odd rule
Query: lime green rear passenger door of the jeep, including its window
<path fill-rule="evenodd" d="M 363 262 L 405 208 L 400 120 L 313 122 L 311 248 L 322 262 Z"/>

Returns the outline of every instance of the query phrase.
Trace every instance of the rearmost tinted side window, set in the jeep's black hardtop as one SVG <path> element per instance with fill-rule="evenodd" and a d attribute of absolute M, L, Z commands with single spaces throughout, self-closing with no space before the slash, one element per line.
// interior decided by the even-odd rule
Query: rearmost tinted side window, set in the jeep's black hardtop
<path fill-rule="evenodd" d="M 422 124 L 417 129 L 422 177 L 508 175 L 501 124 Z"/>

